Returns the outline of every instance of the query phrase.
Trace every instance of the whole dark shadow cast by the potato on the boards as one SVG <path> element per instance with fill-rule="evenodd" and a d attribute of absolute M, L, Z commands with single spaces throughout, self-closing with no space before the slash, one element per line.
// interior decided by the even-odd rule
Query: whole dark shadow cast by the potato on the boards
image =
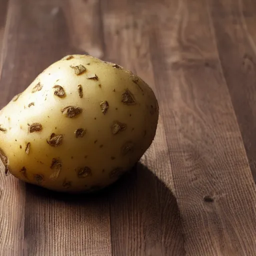
<path fill-rule="evenodd" d="M 38 201 L 37 204 L 41 201 L 45 204 L 43 207 L 53 207 L 48 214 L 59 212 L 59 209 L 54 208 L 59 204 L 54 202 L 61 202 L 62 207 L 68 208 L 72 214 L 66 220 L 68 222 L 85 219 L 85 208 L 98 210 L 101 205 L 109 207 L 113 255 L 161 256 L 183 253 L 176 199 L 170 189 L 141 163 L 137 163 L 112 185 L 93 193 L 67 194 L 26 184 L 26 207 L 31 210 L 33 202 L 30 199 Z M 77 212 L 79 208 L 84 209 L 78 211 L 81 215 Z M 51 219 L 51 216 L 48 217 Z M 30 222 L 26 223 L 29 236 L 37 228 Z"/>

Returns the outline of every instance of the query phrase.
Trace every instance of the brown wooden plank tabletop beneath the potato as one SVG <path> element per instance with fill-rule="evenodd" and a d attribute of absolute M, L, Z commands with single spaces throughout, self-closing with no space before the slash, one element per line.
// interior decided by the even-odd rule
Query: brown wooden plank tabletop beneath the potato
<path fill-rule="evenodd" d="M 134 170 L 66 197 L 0 173 L 0 256 L 256 255 L 255 0 L 0 0 L 0 108 L 66 54 L 156 93 Z"/>

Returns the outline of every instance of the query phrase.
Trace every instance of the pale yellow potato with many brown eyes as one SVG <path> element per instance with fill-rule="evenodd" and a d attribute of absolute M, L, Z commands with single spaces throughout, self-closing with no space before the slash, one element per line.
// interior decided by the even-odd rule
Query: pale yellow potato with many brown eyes
<path fill-rule="evenodd" d="M 16 178 L 86 192 L 115 182 L 152 143 L 152 89 L 117 64 L 68 55 L 0 111 L 0 158 Z"/>

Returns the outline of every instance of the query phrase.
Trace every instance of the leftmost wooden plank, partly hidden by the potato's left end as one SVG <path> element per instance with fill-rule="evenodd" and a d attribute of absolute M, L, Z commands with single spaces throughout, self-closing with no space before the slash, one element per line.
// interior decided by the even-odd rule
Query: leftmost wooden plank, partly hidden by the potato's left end
<path fill-rule="evenodd" d="M 5 57 L 6 33 L 4 32 L 9 23 L 9 18 L 6 20 L 6 16 L 9 16 L 7 6 L 8 0 L 0 2 L 0 76 Z M 0 95 L 2 100 L 1 87 Z M 24 207 L 22 206 L 25 204 L 25 189 L 24 185 L 17 182 L 14 177 L 5 176 L 3 169 L 0 161 L 0 254 L 22 255 L 25 246 L 23 243 Z"/>

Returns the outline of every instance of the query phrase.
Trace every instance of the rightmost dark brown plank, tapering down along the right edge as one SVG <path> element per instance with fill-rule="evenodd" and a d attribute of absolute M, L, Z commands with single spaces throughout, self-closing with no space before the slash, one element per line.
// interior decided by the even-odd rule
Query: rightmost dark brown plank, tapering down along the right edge
<path fill-rule="evenodd" d="M 225 77 L 256 181 L 256 2 L 209 1 Z"/>

